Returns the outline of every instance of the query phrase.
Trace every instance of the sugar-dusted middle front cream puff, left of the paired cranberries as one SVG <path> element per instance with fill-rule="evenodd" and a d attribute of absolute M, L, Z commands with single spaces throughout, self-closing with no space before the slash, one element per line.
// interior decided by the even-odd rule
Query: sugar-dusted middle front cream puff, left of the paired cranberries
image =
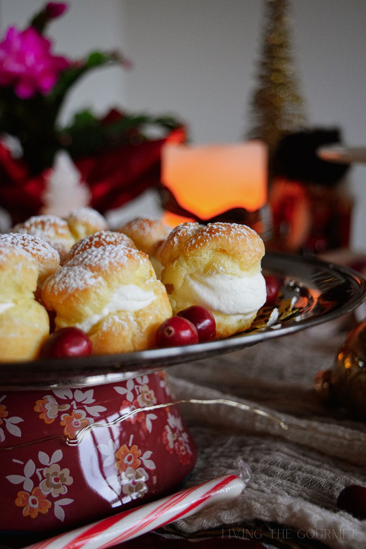
<path fill-rule="evenodd" d="M 147 255 L 123 245 L 90 248 L 49 277 L 42 302 L 56 328 L 76 326 L 94 354 L 148 349 L 172 310 Z"/>

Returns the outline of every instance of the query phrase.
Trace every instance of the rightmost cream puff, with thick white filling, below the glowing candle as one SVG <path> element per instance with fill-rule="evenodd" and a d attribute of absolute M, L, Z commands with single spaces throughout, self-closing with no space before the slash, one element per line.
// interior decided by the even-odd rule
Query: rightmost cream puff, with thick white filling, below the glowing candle
<path fill-rule="evenodd" d="M 217 337 L 245 330 L 266 302 L 263 255 L 262 239 L 245 225 L 178 225 L 160 250 L 173 313 L 201 305 L 215 317 Z"/>

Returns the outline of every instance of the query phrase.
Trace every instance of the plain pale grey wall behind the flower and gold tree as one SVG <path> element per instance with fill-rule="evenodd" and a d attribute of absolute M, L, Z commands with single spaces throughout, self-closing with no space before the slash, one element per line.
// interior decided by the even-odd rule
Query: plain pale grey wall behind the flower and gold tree
<path fill-rule="evenodd" d="M 246 131 L 264 0 L 71 0 L 51 29 L 70 57 L 122 48 L 131 72 L 95 72 L 72 93 L 64 118 L 82 105 L 175 113 L 196 143 L 235 142 Z M 24 25 L 39 0 L 0 0 L 2 31 Z M 366 143 L 364 0 L 292 0 L 293 38 L 309 122 L 336 125 Z M 357 198 L 352 242 L 366 248 L 366 166 L 352 169 Z M 147 208 L 150 207 L 147 205 Z"/>

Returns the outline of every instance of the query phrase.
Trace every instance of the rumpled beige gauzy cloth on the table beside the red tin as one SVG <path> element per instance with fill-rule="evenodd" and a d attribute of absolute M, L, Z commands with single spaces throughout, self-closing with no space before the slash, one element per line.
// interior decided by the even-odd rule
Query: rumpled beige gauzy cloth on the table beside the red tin
<path fill-rule="evenodd" d="M 336 497 L 349 484 L 366 486 L 366 425 L 325 407 L 312 390 L 314 374 L 332 365 L 344 339 L 339 324 L 328 324 L 170 368 L 177 399 L 237 400 L 289 425 L 284 431 L 223 405 L 184 405 L 199 450 L 189 485 L 235 472 L 242 462 L 252 476 L 237 500 L 181 520 L 178 529 L 193 533 L 261 519 L 329 547 L 365 549 L 366 520 L 337 511 Z"/>

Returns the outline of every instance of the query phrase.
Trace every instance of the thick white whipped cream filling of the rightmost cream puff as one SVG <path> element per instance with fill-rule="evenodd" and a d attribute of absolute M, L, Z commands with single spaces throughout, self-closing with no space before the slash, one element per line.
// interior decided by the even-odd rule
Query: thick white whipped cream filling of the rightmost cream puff
<path fill-rule="evenodd" d="M 213 312 L 243 318 L 250 318 L 264 305 L 266 298 L 266 281 L 262 273 L 247 277 L 194 273 L 186 276 L 178 292 L 174 292 L 178 306 L 194 303 Z"/>

